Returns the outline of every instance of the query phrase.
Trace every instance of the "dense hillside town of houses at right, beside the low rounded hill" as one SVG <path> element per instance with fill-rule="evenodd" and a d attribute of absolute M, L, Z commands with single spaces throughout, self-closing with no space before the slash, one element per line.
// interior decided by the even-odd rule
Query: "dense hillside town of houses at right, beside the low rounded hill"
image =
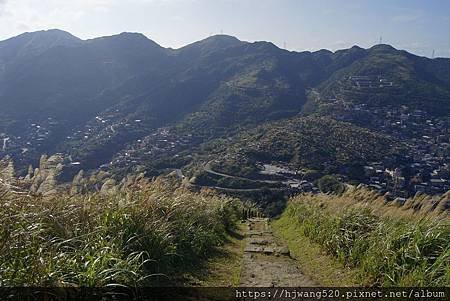
<path fill-rule="evenodd" d="M 338 102 L 336 100 L 335 102 Z M 417 192 L 442 194 L 450 190 L 450 117 L 403 106 L 369 107 L 344 102 L 336 118 L 388 134 L 404 143 L 397 162 L 368 162 L 366 184 L 395 197 Z"/>

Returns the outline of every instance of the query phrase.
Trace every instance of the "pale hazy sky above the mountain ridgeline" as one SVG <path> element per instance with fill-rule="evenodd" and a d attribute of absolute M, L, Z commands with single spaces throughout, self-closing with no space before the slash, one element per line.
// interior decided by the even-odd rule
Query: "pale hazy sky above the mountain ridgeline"
<path fill-rule="evenodd" d="M 289 50 L 379 42 L 450 57 L 448 0 L 0 0 L 0 40 L 58 28 L 82 38 L 141 32 L 179 48 L 223 32 Z"/>

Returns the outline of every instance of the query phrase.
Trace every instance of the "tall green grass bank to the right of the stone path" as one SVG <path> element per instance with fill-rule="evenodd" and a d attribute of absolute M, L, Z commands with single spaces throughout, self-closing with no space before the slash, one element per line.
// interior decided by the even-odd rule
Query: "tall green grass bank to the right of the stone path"
<path fill-rule="evenodd" d="M 341 285 L 353 278 L 361 285 L 449 286 L 448 217 L 424 217 L 420 212 L 415 217 L 408 212 L 410 208 L 381 210 L 378 202 L 356 202 L 363 193 L 299 195 L 289 201 L 275 226 L 291 249 L 320 246 L 337 262 L 354 269 L 355 277 L 351 275 Z M 359 195 L 352 198 L 352 194 Z M 367 192 L 366 197 L 374 196 Z M 302 237 L 309 240 L 306 247 L 299 246 Z"/>

